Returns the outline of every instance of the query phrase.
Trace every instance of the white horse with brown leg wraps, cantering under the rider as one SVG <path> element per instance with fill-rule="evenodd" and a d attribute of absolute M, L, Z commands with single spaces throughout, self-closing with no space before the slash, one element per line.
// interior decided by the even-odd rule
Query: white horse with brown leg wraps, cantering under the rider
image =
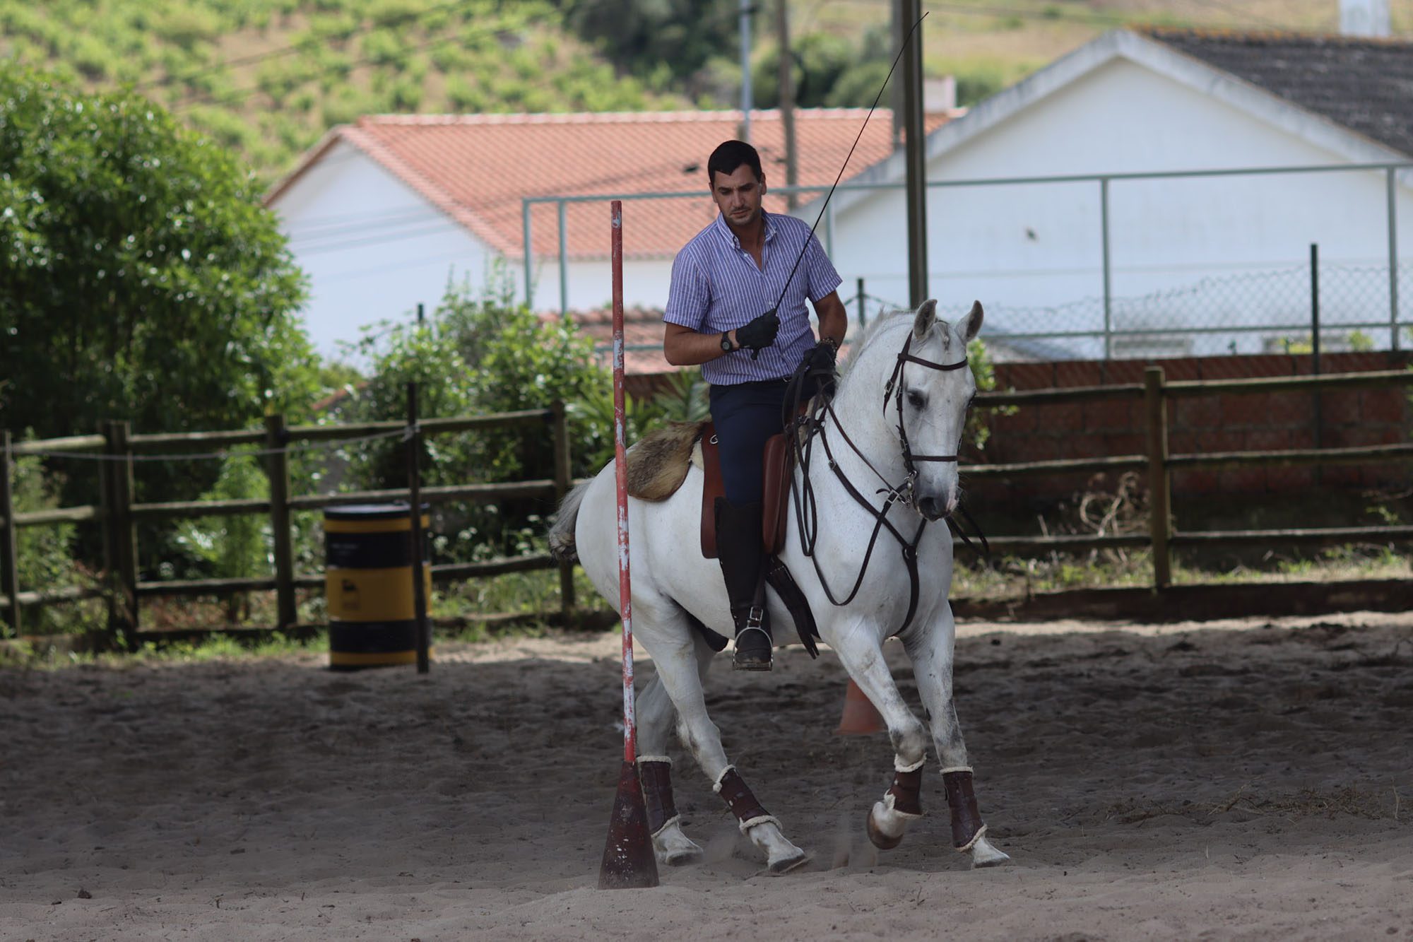
<path fill-rule="evenodd" d="M 966 342 L 981 322 L 979 303 L 951 325 L 937 318 L 937 303 L 927 301 L 916 313 L 879 317 L 853 342 L 832 407 L 822 412 L 814 433 L 814 460 L 794 471 L 796 496 L 801 488 L 812 489 L 817 516 L 801 518 L 793 509 L 780 553 L 814 611 L 820 636 L 887 723 L 894 779 L 869 810 L 869 837 L 879 847 L 893 847 L 923 810 L 928 728 L 903 702 L 882 652 L 883 641 L 897 635 L 931 720 L 952 844 L 971 853 L 974 867 L 999 864 L 1007 856 L 985 837 L 952 704 L 955 625 L 947 601 L 952 537 L 947 523 L 937 521 L 958 504 L 957 453 L 976 389 L 965 369 Z M 667 745 L 675 716 L 681 743 L 736 815 L 740 830 L 764 851 L 770 870 L 780 873 L 803 864 L 807 854 L 786 839 L 780 820 L 760 806 L 728 762 L 702 694 L 715 651 L 692 622 L 732 634 L 719 567 L 697 549 L 702 482 L 702 472 L 692 467 L 666 501 L 632 499 L 629 505 L 633 635 L 657 668 L 637 702 L 649 829 L 658 860 L 678 864 L 701 857 L 673 806 Z M 615 508 L 610 463 L 565 496 L 550 542 L 564 557 L 577 550 L 595 587 L 617 607 Z M 812 559 L 801 545 L 801 519 L 814 540 Z M 811 533 L 814 519 L 820 523 Z M 907 559 L 910 542 L 916 542 L 916 563 Z M 845 601 L 855 580 L 852 598 L 834 604 L 831 598 Z M 794 624 L 788 611 L 773 594 L 769 607 L 774 636 L 787 636 Z"/>

